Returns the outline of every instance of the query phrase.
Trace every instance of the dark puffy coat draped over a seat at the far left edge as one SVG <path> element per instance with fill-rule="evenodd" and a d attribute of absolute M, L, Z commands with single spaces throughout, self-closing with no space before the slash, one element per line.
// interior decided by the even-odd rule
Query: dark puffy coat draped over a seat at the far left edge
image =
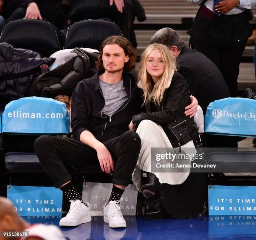
<path fill-rule="evenodd" d="M 41 72 L 42 64 L 51 65 L 54 58 L 42 58 L 38 52 L 13 48 L 0 43 L 0 102 L 6 103 L 25 97 L 31 83 Z"/>

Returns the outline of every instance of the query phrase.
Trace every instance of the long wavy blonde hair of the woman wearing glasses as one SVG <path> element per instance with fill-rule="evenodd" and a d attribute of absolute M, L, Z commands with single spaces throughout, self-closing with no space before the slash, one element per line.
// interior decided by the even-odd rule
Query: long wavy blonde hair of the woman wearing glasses
<path fill-rule="evenodd" d="M 159 81 L 157 81 L 154 84 L 154 87 L 152 87 L 151 75 L 146 70 L 146 59 L 150 52 L 154 49 L 160 51 L 161 57 L 164 60 L 165 67 Z M 156 105 L 160 105 L 161 101 L 163 100 L 164 90 L 172 80 L 174 71 L 177 71 L 176 60 L 172 56 L 169 48 L 159 43 L 148 45 L 148 47 L 143 51 L 141 55 L 140 69 L 138 72 L 138 81 L 141 82 L 141 88 L 144 92 L 143 104 L 151 101 Z"/>

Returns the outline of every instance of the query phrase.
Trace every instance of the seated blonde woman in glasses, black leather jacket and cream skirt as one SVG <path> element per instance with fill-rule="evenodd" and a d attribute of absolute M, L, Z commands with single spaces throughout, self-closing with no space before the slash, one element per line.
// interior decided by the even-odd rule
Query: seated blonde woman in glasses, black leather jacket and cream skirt
<path fill-rule="evenodd" d="M 145 198 L 152 198 L 162 183 L 182 184 L 189 176 L 189 169 L 181 173 L 151 171 L 151 148 L 196 153 L 191 133 L 197 128 L 194 118 L 184 114 L 190 103 L 189 87 L 177 72 L 175 58 L 165 45 L 151 44 L 143 52 L 138 87 L 145 112 L 134 115 L 129 125 L 141 138 L 141 152 L 132 180 Z M 147 172 L 145 185 L 141 185 L 142 170 Z"/>

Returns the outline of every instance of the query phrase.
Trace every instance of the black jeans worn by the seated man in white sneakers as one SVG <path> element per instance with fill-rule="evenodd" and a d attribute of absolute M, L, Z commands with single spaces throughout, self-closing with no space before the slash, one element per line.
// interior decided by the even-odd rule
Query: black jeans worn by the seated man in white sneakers
<path fill-rule="evenodd" d="M 140 137 L 135 132 L 127 131 L 103 144 L 115 162 L 112 183 L 128 186 L 141 149 Z M 65 166 L 85 168 L 100 165 L 96 150 L 72 138 L 43 135 L 36 139 L 34 149 L 56 188 L 72 180 Z"/>

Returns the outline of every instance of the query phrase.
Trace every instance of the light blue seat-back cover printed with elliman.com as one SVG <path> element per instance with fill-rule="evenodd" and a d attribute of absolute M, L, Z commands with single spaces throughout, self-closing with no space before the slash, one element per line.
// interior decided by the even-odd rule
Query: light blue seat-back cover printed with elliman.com
<path fill-rule="evenodd" d="M 2 115 L 8 134 L 69 134 L 69 115 L 63 102 L 46 97 L 23 97 L 9 102 Z"/>

